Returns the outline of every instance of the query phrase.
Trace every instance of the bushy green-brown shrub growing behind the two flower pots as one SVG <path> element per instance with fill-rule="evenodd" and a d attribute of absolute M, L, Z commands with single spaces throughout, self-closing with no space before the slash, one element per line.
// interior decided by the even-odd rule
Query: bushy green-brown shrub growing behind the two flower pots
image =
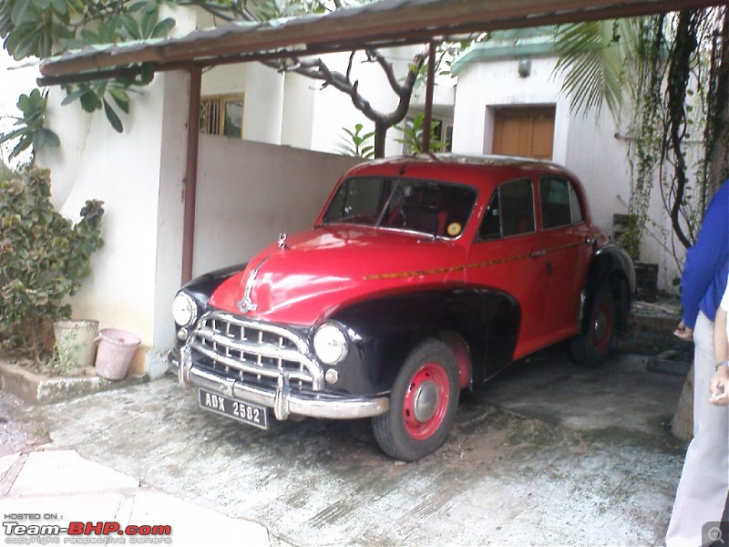
<path fill-rule="evenodd" d="M 49 200 L 47 170 L 0 182 L 0 196 L 0 342 L 26 348 L 37 363 L 43 325 L 71 315 L 65 299 L 104 244 L 103 201 L 87 201 L 74 225 Z"/>

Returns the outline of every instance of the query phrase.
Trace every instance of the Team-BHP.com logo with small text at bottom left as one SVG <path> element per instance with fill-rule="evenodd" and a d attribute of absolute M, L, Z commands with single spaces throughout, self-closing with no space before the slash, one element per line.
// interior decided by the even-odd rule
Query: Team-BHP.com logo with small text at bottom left
<path fill-rule="evenodd" d="M 5 515 L 7 518 L 8 515 Z M 12 517 L 12 515 L 11 515 Z M 81 544 L 161 544 L 171 543 L 169 525 L 134 525 L 122 527 L 115 521 L 68 522 L 67 526 L 58 524 L 26 524 L 18 521 L 4 521 L 5 543 L 17 545 L 48 545 L 60 543 L 61 534 L 66 534 L 64 543 Z"/>

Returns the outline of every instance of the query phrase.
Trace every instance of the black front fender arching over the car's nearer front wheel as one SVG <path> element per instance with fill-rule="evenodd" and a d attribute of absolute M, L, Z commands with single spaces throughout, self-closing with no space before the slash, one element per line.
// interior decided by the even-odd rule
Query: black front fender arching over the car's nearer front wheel
<path fill-rule="evenodd" d="M 496 289 L 434 287 L 344 305 L 326 321 L 340 325 L 350 340 L 336 388 L 372 395 L 389 391 L 406 356 L 426 338 L 454 349 L 461 387 L 482 383 L 511 363 L 520 309 Z"/>

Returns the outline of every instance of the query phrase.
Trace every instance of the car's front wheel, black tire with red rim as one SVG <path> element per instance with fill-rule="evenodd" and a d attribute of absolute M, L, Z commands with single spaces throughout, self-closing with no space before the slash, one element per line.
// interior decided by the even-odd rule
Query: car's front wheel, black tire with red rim
<path fill-rule="evenodd" d="M 372 420 L 380 448 L 404 461 L 435 452 L 447 438 L 459 395 L 456 357 L 443 342 L 426 340 L 395 378 L 390 409 Z"/>

